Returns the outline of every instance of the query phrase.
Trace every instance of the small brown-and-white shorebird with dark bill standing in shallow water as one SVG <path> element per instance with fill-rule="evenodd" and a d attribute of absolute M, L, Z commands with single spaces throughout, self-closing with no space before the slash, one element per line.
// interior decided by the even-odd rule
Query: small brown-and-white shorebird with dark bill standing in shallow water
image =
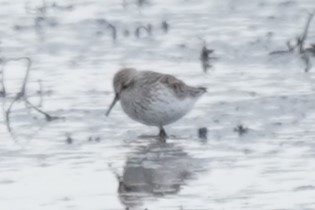
<path fill-rule="evenodd" d="M 120 100 L 124 112 L 131 119 L 145 125 L 157 126 L 163 142 L 167 138 L 163 126 L 182 118 L 206 92 L 205 88 L 188 86 L 172 75 L 132 68 L 118 71 L 114 76 L 113 86 L 115 98 L 106 116 Z"/>

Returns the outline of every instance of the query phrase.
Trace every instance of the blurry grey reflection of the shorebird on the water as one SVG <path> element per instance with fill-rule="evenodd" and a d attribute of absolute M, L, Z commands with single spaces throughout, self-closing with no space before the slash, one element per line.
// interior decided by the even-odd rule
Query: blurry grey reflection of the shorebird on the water
<path fill-rule="evenodd" d="M 176 194 L 198 165 L 179 146 L 155 143 L 130 155 L 119 180 L 119 197 L 127 206 L 145 198 Z"/>

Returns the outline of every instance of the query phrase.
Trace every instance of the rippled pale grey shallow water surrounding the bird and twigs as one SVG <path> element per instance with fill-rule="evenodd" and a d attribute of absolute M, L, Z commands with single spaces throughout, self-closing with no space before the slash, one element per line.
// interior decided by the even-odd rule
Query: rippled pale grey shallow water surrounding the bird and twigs
<path fill-rule="evenodd" d="M 1 209 L 315 209 L 314 68 L 304 73 L 296 54 L 268 55 L 303 31 L 315 3 L 135 2 L 60 1 L 41 22 L 33 10 L 41 1 L 27 11 L 25 1 L 0 1 L 1 57 L 30 57 L 30 100 L 39 103 L 41 80 L 42 109 L 62 117 L 46 122 L 16 103 L 11 134 L 0 118 Z M 104 20 L 117 27 L 115 41 Z M 149 23 L 152 35 L 136 38 Z M 218 57 L 207 74 L 201 39 Z M 166 128 L 167 144 L 139 138 L 158 131 L 119 106 L 105 117 L 112 77 L 126 66 L 208 88 Z M 23 61 L 6 65 L 4 110 L 24 74 Z M 239 125 L 248 132 L 235 132 Z M 198 138 L 200 127 L 207 140 Z"/>

